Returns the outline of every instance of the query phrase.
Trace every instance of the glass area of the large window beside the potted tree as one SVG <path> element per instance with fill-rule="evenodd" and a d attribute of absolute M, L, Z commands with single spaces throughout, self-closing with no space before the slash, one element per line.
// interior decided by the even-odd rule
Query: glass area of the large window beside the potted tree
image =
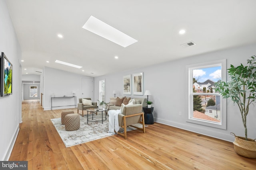
<path fill-rule="evenodd" d="M 220 96 L 214 84 L 221 80 L 221 66 L 204 66 L 193 69 L 193 118 L 221 122 Z M 198 95 L 196 95 L 198 94 Z M 202 95 L 204 94 L 204 95 Z"/>

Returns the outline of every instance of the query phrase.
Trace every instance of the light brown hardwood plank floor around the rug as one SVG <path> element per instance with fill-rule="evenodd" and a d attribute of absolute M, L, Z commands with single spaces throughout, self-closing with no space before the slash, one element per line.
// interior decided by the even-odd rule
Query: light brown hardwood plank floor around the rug
<path fill-rule="evenodd" d="M 234 152 L 233 144 L 160 123 L 120 135 L 65 147 L 38 100 L 22 103 L 20 131 L 9 160 L 27 160 L 29 170 L 255 170 L 256 159 Z M 81 114 L 81 113 L 80 113 Z"/>

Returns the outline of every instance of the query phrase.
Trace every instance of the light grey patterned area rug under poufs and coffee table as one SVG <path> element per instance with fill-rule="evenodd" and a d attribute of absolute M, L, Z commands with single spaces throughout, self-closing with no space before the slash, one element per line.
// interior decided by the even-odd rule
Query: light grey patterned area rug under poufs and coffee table
<path fill-rule="evenodd" d="M 88 115 L 89 117 L 92 117 L 91 114 Z M 97 116 L 97 118 L 94 118 L 94 120 L 101 120 L 101 113 L 98 115 L 94 114 L 94 117 Z M 103 113 L 103 117 L 105 114 Z M 105 118 L 105 117 L 104 117 Z M 71 147 L 74 145 L 78 145 L 80 143 L 85 143 L 89 141 L 94 141 L 96 139 L 101 139 L 104 137 L 108 137 L 111 135 L 115 135 L 113 133 L 108 133 L 108 115 L 107 120 L 98 121 L 98 122 L 88 122 L 87 124 L 87 114 L 84 115 L 84 117 L 80 116 L 80 128 L 76 131 L 66 131 L 65 125 L 61 124 L 61 118 L 55 118 L 51 119 L 54 127 L 58 131 L 62 141 L 66 145 L 66 147 Z M 138 127 L 142 127 L 140 123 L 135 124 Z M 134 127 L 127 127 L 127 131 L 132 131 L 136 128 Z M 124 129 L 120 127 L 119 132 L 123 133 Z"/>

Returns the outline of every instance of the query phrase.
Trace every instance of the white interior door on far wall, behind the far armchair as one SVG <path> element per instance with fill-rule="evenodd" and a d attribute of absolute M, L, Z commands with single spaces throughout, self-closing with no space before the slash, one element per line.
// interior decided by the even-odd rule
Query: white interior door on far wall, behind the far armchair
<path fill-rule="evenodd" d="M 94 101 L 94 80 L 93 78 L 82 78 L 82 98 L 91 98 Z"/>

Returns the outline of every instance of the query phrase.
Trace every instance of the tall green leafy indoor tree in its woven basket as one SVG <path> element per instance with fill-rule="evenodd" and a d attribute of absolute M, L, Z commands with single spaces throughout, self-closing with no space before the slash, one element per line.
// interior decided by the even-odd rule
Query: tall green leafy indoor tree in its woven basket
<path fill-rule="evenodd" d="M 256 158 L 256 141 L 247 137 L 246 117 L 249 106 L 256 102 L 256 56 L 247 60 L 247 66 L 230 65 L 228 75 L 231 80 L 228 82 L 217 82 L 216 92 L 223 98 L 230 98 L 239 107 L 242 122 L 244 125 L 245 137 L 238 137 L 234 133 L 234 150 L 236 153 L 248 157 Z M 254 114 L 254 113 L 253 113 Z"/>

